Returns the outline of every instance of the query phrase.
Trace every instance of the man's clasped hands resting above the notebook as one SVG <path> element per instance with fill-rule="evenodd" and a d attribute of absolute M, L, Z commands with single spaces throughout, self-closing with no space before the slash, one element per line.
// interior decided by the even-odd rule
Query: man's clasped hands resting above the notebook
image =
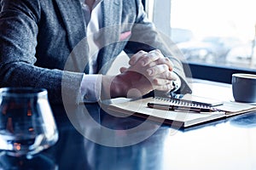
<path fill-rule="evenodd" d="M 169 92 L 173 88 L 172 81 L 177 79 L 172 72 L 172 62 L 157 49 L 149 53 L 140 51 L 134 54 L 129 64 L 131 66 L 122 67 L 121 74 L 116 77 L 102 77 L 104 94 L 108 90 L 108 96 L 114 98 L 139 97 L 152 90 Z"/>

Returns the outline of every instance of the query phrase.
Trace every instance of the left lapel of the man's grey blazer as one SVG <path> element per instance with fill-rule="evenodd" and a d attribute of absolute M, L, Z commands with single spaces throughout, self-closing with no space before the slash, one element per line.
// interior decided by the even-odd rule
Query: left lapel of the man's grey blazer
<path fill-rule="evenodd" d="M 71 71 L 88 72 L 88 44 L 85 41 L 84 14 L 79 0 L 55 0 L 61 11 L 64 26 L 67 29 L 67 39 L 70 55 L 66 69 Z M 81 41 L 83 40 L 83 41 Z M 74 49 L 74 50 L 73 50 Z M 84 69 L 86 65 L 86 68 Z"/>

